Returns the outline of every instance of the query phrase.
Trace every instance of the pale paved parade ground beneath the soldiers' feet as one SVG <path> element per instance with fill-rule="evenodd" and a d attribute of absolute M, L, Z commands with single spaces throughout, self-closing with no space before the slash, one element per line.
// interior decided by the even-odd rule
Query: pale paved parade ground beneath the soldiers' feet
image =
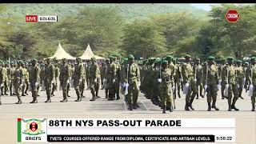
<path fill-rule="evenodd" d="M 70 90 L 69 102 L 59 102 L 62 100 L 62 91 L 56 91 L 50 103 L 45 103 L 46 92 L 39 91 L 38 103 L 30 104 L 31 93 L 22 96 L 22 104 L 17 102 L 16 96 L 2 96 L 0 106 L 0 143 L 16 143 L 17 118 L 236 118 L 236 142 L 235 143 L 256 143 L 256 113 L 251 111 L 250 97 L 242 94 L 243 98 L 238 98 L 236 106 L 239 111 L 227 111 L 227 99 L 221 99 L 218 92 L 216 106 L 219 111 L 207 111 L 206 98 L 194 99 L 194 111 L 185 111 L 185 95 L 175 99 L 176 110 L 162 114 L 159 106 L 155 106 L 150 99 L 139 94 L 137 110 L 127 110 L 124 97 L 115 101 L 107 101 L 104 90 L 99 90 L 99 96 L 94 102 L 90 102 L 90 90 L 85 90 L 82 102 L 74 102 L 77 98 L 74 89 Z M 245 131 L 252 133 L 246 133 Z M 31 142 L 30 142 L 31 143 Z M 181 143 L 181 142 L 179 142 Z"/>

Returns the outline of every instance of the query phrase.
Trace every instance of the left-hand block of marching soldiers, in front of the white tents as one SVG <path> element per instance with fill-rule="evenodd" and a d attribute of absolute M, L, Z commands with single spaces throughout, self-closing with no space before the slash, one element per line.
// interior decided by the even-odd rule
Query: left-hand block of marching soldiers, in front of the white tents
<path fill-rule="evenodd" d="M 0 61 L 1 95 L 8 95 L 9 91 L 10 95 L 16 95 L 18 98 L 18 102 L 15 104 L 22 104 L 21 96 L 28 95 L 27 92 L 30 89 L 33 98 L 30 103 L 38 103 L 38 90 L 41 87 L 46 90 L 46 102 L 51 102 L 51 97 L 58 89 L 59 82 L 63 94 L 63 99 L 60 102 L 68 102 L 67 97 L 70 97 L 68 93 L 72 85 L 77 94 L 75 102 L 81 102 L 82 98 L 85 98 L 83 91 L 86 85 L 92 94 L 90 101 L 100 98 L 98 90 L 101 85 L 102 89 L 105 88 L 106 98 L 113 101 L 120 99 L 120 82 L 122 82 L 125 86 L 130 84 L 129 90 L 126 90 L 130 94 L 130 98 L 127 98 L 129 109 L 136 109 L 140 79 L 139 66 L 134 61 L 133 55 L 126 58 L 126 63 L 130 65 L 130 69 L 126 69 L 127 71 L 114 56 L 107 58 L 106 62 L 97 62 L 95 58 L 91 58 L 90 62 L 86 63 L 83 63 L 81 58 L 76 58 L 76 62 L 68 62 L 66 58 L 61 61 L 46 58 L 45 61 L 39 63 L 36 59 L 28 63 L 18 60 L 17 63 L 10 62 L 10 66 L 6 62 Z M 126 74 L 122 74 L 125 77 L 121 76 L 121 67 L 122 70 L 125 70 Z M 128 82 L 130 83 L 128 84 Z M 132 105 L 131 102 L 134 104 Z M 1 97 L 0 104 L 2 104 Z"/>

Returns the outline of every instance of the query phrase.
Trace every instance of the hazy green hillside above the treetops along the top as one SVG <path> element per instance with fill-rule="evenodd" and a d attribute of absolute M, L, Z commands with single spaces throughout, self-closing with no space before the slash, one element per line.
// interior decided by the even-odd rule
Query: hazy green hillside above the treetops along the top
<path fill-rule="evenodd" d="M 151 14 L 187 12 L 198 18 L 208 18 L 207 11 L 190 4 L 6 4 L 2 18 L 25 18 L 26 14 L 58 15 L 59 18 L 78 14 L 86 6 L 115 6 L 127 21 L 147 18 Z"/>

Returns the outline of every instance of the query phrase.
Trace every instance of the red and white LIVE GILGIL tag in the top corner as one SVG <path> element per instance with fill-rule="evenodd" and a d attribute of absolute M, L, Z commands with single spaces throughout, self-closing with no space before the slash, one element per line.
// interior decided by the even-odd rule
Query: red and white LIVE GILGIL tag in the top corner
<path fill-rule="evenodd" d="M 58 22 L 58 16 L 26 15 L 26 22 Z"/>

